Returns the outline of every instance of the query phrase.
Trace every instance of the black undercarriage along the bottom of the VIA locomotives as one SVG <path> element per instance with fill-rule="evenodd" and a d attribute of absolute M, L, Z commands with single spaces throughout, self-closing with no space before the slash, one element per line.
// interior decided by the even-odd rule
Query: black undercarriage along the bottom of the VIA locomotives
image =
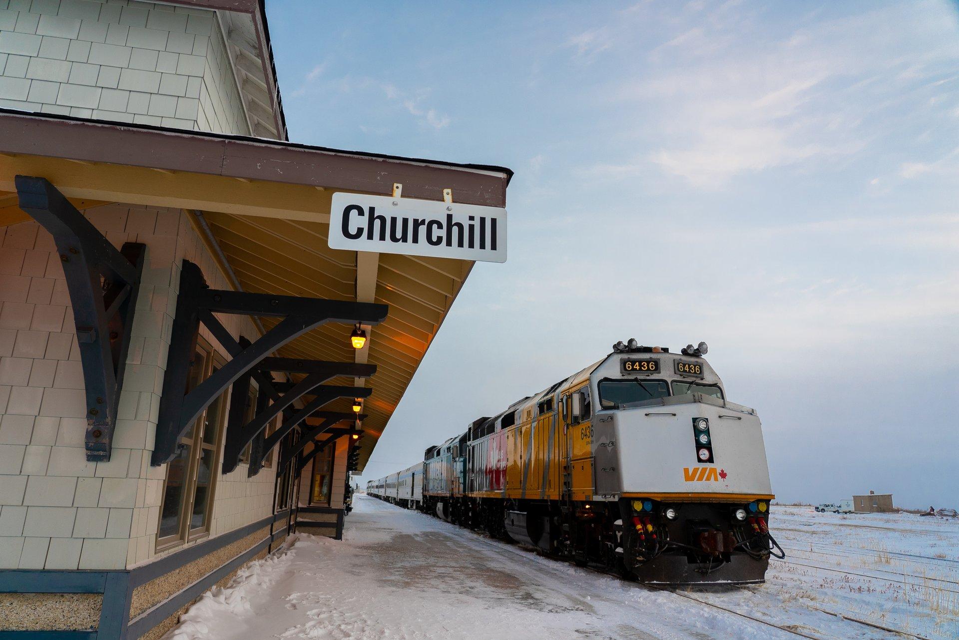
<path fill-rule="evenodd" d="M 768 505 L 762 501 L 664 505 L 629 498 L 573 502 L 429 495 L 421 509 L 641 583 L 762 583 L 770 555 L 783 553 L 769 534 Z M 745 515 L 739 518 L 737 512 Z"/>

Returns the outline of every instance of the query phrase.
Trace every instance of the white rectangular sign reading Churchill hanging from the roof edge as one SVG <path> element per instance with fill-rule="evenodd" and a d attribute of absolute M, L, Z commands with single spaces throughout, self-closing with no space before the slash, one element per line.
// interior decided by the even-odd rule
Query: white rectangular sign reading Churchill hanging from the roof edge
<path fill-rule="evenodd" d="M 385 195 L 333 194 L 330 247 L 506 262 L 506 210 Z"/>

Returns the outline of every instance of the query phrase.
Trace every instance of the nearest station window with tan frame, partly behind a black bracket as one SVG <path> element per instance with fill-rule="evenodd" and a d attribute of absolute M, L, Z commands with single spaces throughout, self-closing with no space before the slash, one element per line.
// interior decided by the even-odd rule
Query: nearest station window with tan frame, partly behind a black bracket
<path fill-rule="evenodd" d="M 218 371 L 222 364 L 209 343 L 199 338 L 187 378 L 187 392 Z M 175 458 L 167 465 L 156 533 L 158 547 L 209 532 L 225 413 L 226 392 L 223 392 L 180 439 Z"/>

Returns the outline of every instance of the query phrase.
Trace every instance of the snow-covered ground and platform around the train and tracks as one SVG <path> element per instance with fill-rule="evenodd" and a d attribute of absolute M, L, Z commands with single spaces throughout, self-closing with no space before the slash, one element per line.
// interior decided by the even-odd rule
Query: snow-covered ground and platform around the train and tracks
<path fill-rule="evenodd" d="M 355 503 L 342 541 L 296 537 L 205 594 L 167 640 L 903 637 L 862 622 L 959 637 L 957 520 L 778 507 L 788 557 L 767 583 L 673 593 Z"/>

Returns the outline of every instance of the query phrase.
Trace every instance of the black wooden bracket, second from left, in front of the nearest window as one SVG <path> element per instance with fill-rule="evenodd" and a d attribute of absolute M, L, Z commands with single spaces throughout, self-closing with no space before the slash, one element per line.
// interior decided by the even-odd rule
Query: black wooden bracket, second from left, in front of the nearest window
<path fill-rule="evenodd" d="M 199 266 L 190 261 L 183 261 L 151 464 L 157 466 L 172 460 L 176 452 L 176 443 L 186 430 L 197 420 L 199 414 L 237 378 L 251 371 L 284 371 L 282 368 L 272 367 L 266 363 L 268 360 L 288 360 L 289 358 L 273 358 L 268 355 L 292 339 L 328 322 L 376 325 L 386 319 L 387 311 L 386 305 L 372 303 L 211 289 L 206 286 Z M 232 338 L 226 340 L 223 346 L 233 352 L 231 353 L 233 358 L 184 395 L 190 361 L 193 359 L 196 348 L 199 324 L 202 322 L 221 342 L 229 335 L 229 332 L 213 315 L 214 313 L 272 316 L 283 319 L 246 348 Z M 311 361 L 292 360 L 292 362 L 309 363 Z M 260 377 L 257 377 L 258 374 L 251 375 L 258 381 L 261 380 L 262 375 Z M 274 401 L 277 400 L 279 396 L 272 389 L 270 381 L 266 377 L 262 377 L 262 380 L 261 385 L 264 385 Z"/>

